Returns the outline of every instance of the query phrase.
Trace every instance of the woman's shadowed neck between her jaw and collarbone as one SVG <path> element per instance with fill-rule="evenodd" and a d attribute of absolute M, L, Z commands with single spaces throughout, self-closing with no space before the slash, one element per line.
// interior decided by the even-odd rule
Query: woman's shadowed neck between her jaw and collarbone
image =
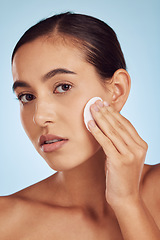
<path fill-rule="evenodd" d="M 102 149 L 80 166 L 58 173 L 67 205 L 81 207 L 94 215 L 103 216 L 105 199 L 105 154 Z"/>

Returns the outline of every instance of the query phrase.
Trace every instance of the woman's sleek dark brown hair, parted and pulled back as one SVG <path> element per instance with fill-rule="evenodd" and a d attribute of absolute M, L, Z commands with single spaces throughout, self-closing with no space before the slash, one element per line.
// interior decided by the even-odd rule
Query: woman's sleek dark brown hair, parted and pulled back
<path fill-rule="evenodd" d="M 103 21 L 71 12 L 54 15 L 29 28 L 16 44 L 12 61 L 17 50 L 42 36 L 54 33 L 76 39 L 85 50 L 86 61 L 92 64 L 102 78 L 111 78 L 126 63 L 116 33 Z"/>

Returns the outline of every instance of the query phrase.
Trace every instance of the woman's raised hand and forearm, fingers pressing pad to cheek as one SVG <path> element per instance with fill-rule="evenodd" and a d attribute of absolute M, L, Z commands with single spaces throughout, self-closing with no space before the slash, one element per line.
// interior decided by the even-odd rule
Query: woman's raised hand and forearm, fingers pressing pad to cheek
<path fill-rule="evenodd" d="M 125 240 L 159 240 L 160 230 L 140 195 L 147 144 L 111 106 L 92 105 L 89 128 L 106 154 L 106 200 Z"/>

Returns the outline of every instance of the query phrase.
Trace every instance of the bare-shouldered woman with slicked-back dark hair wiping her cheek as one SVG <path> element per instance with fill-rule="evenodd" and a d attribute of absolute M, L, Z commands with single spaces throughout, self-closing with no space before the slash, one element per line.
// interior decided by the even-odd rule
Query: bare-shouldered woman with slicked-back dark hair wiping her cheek
<path fill-rule="evenodd" d="M 57 172 L 1 197 L 1 239 L 158 240 L 160 166 L 144 164 L 147 143 L 119 113 L 130 76 L 114 31 L 55 15 L 22 36 L 12 70 L 23 127 Z"/>

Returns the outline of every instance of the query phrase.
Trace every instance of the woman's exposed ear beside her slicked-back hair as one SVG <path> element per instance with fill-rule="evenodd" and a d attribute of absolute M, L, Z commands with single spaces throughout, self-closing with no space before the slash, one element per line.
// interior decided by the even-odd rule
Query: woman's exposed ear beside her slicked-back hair
<path fill-rule="evenodd" d="M 110 104 L 121 111 L 127 101 L 131 87 L 131 79 L 128 72 L 124 69 L 118 69 L 112 77 L 112 96 Z"/>

